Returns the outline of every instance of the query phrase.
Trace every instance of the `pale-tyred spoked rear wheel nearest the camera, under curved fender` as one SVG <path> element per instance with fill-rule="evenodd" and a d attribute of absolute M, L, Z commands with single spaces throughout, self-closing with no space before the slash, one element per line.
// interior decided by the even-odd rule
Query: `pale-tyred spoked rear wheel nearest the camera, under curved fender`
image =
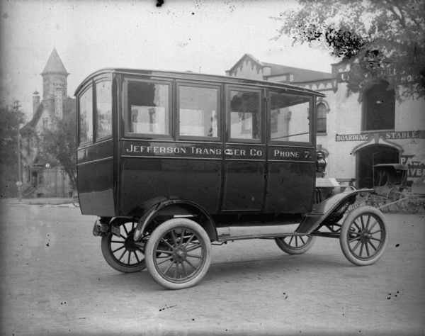
<path fill-rule="evenodd" d="M 211 262 L 210 237 L 193 220 L 174 218 L 159 225 L 145 248 L 147 270 L 166 289 L 197 284 Z"/>

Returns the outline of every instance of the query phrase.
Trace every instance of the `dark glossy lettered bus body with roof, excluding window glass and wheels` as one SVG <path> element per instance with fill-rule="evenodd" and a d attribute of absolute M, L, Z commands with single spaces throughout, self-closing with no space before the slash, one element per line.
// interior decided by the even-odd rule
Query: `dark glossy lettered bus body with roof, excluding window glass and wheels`
<path fill-rule="evenodd" d="M 181 135 L 176 123 L 170 125 L 168 135 L 126 131 L 125 118 L 129 116 L 124 113 L 132 97 L 125 96 L 124 91 L 132 79 L 155 84 L 166 82 L 170 124 L 176 120 L 178 110 L 176 89 L 191 85 L 215 88 L 217 136 Z M 315 97 L 322 94 L 233 77 L 111 69 L 86 79 L 77 91 L 77 99 L 90 87 L 109 81 L 113 98 L 111 118 L 115 121 L 111 134 L 98 138 L 98 132 L 93 130 L 93 139 L 82 143 L 80 140 L 77 151 L 79 200 L 84 215 L 137 215 L 143 202 L 169 196 L 196 200 L 211 215 L 311 210 L 316 158 L 312 113 Z M 261 115 L 261 135 L 257 139 L 230 138 L 225 123 L 230 106 L 225 97 L 232 89 L 258 93 L 256 113 Z M 273 89 L 309 100 L 311 122 L 305 118 L 307 141 L 271 140 L 267 134 L 270 121 L 266 115 L 270 113 Z M 96 103 L 95 92 L 92 102 Z M 93 125 L 96 128 L 96 118 Z"/>

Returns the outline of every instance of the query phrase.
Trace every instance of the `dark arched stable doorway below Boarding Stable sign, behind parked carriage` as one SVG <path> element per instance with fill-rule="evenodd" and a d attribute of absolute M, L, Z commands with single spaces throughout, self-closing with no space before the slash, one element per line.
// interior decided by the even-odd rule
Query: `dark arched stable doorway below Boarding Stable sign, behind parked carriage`
<path fill-rule="evenodd" d="M 357 188 L 373 187 L 373 166 L 399 163 L 399 150 L 387 145 L 370 145 L 357 152 Z"/>

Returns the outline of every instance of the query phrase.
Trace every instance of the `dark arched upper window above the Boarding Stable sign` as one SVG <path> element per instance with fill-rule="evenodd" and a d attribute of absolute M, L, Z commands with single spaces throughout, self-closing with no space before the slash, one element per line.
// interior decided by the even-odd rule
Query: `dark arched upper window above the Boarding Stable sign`
<path fill-rule="evenodd" d="M 366 89 L 363 96 L 363 130 L 394 130 L 395 91 L 381 82 Z"/>

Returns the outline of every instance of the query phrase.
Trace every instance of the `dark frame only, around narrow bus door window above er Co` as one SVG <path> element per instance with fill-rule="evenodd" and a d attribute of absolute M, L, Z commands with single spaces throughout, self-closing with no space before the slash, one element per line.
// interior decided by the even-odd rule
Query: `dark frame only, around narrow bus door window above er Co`
<path fill-rule="evenodd" d="M 260 127 L 260 138 L 259 139 L 242 139 L 242 138 L 232 138 L 232 124 L 231 124 L 231 108 L 230 108 L 230 97 L 232 91 L 244 91 L 244 92 L 254 92 L 259 93 L 259 108 L 260 108 L 260 121 L 261 121 L 261 127 Z M 265 141 L 265 128 L 266 125 L 264 123 L 265 121 L 265 115 L 266 115 L 266 106 L 264 104 L 264 97 L 266 96 L 265 89 L 261 86 L 239 86 L 234 84 L 227 84 L 226 86 L 226 94 L 225 94 L 225 121 L 226 121 L 226 142 L 227 143 L 254 143 L 259 145 L 264 145 L 266 143 Z"/>

